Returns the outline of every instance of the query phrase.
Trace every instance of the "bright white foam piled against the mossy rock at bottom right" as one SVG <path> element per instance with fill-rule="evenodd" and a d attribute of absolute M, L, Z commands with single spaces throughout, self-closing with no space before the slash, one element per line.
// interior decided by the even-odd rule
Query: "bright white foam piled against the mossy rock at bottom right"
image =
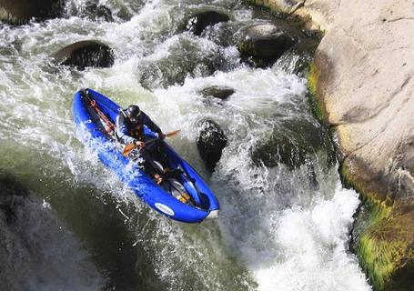
<path fill-rule="evenodd" d="M 257 289 L 368 290 L 357 259 L 347 247 L 357 206 L 357 193 L 338 185 L 332 199 L 320 199 L 309 209 L 282 211 L 262 245 L 266 254 L 268 249 L 276 252 L 274 260 L 257 261 L 263 257 L 261 251 L 247 256 Z"/>

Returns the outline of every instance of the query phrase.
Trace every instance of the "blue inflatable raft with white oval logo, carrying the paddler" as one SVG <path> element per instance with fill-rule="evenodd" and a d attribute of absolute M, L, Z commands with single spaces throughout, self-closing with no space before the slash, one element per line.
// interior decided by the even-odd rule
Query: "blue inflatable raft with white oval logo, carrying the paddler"
<path fill-rule="evenodd" d="M 157 140 L 158 153 L 164 158 L 162 168 L 174 173 L 163 176 L 158 185 L 146 170 L 122 155 L 116 138 L 111 134 L 120 106 L 91 89 L 76 92 L 73 116 L 76 127 L 87 146 L 97 151 L 99 159 L 148 206 L 171 219 L 200 223 L 218 216 L 216 196 L 186 160 L 177 155 L 166 142 Z M 144 126 L 145 135 L 157 135 Z M 161 150 L 160 150 L 161 149 Z M 157 160 L 157 156 L 154 157 Z M 160 164 L 160 163 L 158 163 Z"/>

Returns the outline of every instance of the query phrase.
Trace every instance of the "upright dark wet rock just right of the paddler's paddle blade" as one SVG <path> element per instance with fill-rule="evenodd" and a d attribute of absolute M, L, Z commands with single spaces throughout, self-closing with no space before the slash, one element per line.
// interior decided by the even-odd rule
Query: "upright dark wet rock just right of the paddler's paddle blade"
<path fill-rule="evenodd" d="M 227 136 L 216 122 L 202 119 L 197 122 L 199 134 L 197 136 L 198 153 L 207 169 L 213 171 L 220 160 L 223 148 L 227 146 Z"/>

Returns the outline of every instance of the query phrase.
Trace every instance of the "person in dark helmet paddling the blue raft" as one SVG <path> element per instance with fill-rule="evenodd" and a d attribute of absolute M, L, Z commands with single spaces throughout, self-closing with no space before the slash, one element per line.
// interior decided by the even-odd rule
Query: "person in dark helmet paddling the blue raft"
<path fill-rule="evenodd" d="M 120 110 L 116 116 L 116 138 L 124 145 L 136 145 L 129 157 L 136 160 L 138 165 L 142 166 L 148 174 L 154 176 L 157 184 L 160 184 L 164 169 L 154 161 L 153 155 L 157 152 L 157 142 L 153 141 L 146 145 L 146 141 L 154 139 L 144 135 L 144 125 L 155 132 L 160 140 L 166 138 L 161 128 L 137 105 L 129 105 L 125 110 Z"/>

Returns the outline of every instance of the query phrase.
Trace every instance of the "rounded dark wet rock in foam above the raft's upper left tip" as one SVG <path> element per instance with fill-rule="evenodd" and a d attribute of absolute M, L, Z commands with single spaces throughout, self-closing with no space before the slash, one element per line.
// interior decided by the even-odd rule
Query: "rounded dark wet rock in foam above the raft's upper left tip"
<path fill-rule="evenodd" d="M 59 50 L 52 55 L 61 65 L 76 66 L 84 70 L 87 66 L 110 67 L 114 65 L 112 49 L 99 41 L 80 41 Z"/>

